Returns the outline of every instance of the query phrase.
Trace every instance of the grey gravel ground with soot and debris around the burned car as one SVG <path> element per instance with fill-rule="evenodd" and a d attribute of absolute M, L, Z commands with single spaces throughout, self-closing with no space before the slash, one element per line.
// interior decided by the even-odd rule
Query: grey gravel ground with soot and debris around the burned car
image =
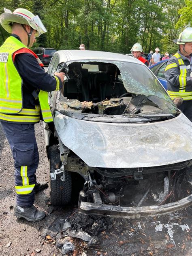
<path fill-rule="evenodd" d="M 45 153 L 43 123 L 36 124 L 39 150 L 38 181 L 49 181 L 49 163 Z M 98 242 L 87 248 L 81 239 L 70 238 L 75 251 L 68 255 L 173 255 L 190 256 L 192 209 L 188 208 L 160 218 L 115 220 L 79 215 L 72 206 L 53 208 L 49 203 L 49 188 L 36 194 L 35 205 L 46 211 L 41 222 L 30 223 L 13 216 L 15 205 L 14 168 L 9 144 L 0 126 L 0 255 L 60 256 L 62 225 L 65 220 L 73 228 L 83 227 Z M 86 224 L 85 224 L 86 223 Z M 53 227 L 60 226 L 60 237 Z M 98 227 L 98 228 L 96 228 Z M 56 230 L 56 229 L 55 229 Z M 94 231 L 93 231 L 94 230 Z M 56 233 L 57 234 L 57 233 Z M 47 236 L 48 235 L 48 236 Z M 46 237 L 47 236 L 47 237 Z"/>

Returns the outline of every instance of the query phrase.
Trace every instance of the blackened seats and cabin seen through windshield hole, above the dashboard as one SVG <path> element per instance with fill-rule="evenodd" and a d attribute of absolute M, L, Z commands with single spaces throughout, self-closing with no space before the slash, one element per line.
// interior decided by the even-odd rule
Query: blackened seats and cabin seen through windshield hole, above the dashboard
<path fill-rule="evenodd" d="M 119 79 L 120 70 L 117 66 L 98 62 L 91 64 L 98 65 L 98 72 L 89 72 L 87 68 L 82 68 L 83 63 L 80 62 L 68 65 L 70 79 L 64 84 L 62 92 L 65 97 L 81 102 L 100 102 L 127 93 L 122 79 Z"/>

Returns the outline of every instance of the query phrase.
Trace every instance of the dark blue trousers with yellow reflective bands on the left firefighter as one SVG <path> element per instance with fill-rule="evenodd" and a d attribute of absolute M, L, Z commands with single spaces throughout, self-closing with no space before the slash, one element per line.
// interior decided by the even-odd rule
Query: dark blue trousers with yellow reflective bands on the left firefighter
<path fill-rule="evenodd" d="M 34 124 L 1 124 L 15 161 L 16 203 L 31 206 L 34 203 L 35 173 L 39 159 Z"/>

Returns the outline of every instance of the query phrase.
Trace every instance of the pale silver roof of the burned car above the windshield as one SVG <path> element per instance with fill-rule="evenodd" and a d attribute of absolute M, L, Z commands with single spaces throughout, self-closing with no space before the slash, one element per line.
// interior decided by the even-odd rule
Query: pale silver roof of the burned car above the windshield
<path fill-rule="evenodd" d="M 60 56 L 60 60 L 64 61 L 83 61 L 83 60 L 97 60 L 97 61 L 124 61 L 132 62 L 144 65 L 141 61 L 136 58 L 132 58 L 128 55 L 120 53 L 112 53 L 107 51 L 81 51 L 81 50 L 59 50 L 57 54 Z"/>

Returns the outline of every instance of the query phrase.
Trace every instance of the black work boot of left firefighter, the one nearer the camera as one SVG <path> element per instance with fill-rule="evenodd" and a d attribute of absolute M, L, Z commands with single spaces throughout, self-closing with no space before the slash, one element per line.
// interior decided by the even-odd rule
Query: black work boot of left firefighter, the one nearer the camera
<path fill-rule="evenodd" d="M 29 207 L 15 205 L 13 214 L 18 218 L 24 218 L 31 222 L 42 220 L 45 217 L 45 212 L 39 211 L 34 205 Z"/>

